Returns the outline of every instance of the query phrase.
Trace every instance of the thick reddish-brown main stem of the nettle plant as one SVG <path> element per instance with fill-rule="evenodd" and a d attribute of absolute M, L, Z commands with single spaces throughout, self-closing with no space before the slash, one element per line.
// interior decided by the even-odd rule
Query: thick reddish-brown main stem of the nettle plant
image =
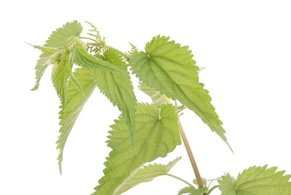
<path fill-rule="evenodd" d="M 172 104 L 168 97 L 166 97 L 165 95 L 163 95 L 163 97 L 164 97 L 164 99 L 165 99 L 167 104 Z M 183 126 L 181 124 L 180 119 L 178 119 L 178 124 L 179 124 L 180 135 L 182 137 L 183 143 L 185 145 L 186 151 L 187 151 L 189 159 L 191 161 L 191 165 L 192 165 L 193 170 L 194 170 L 195 177 L 197 179 L 198 187 L 199 188 L 203 188 L 203 181 L 202 181 L 202 178 L 200 176 L 196 161 L 194 159 L 190 144 L 188 142 L 188 139 L 186 137 L 186 134 L 185 134 L 185 131 L 184 131 L 184 128 L 183 128 Z"/>

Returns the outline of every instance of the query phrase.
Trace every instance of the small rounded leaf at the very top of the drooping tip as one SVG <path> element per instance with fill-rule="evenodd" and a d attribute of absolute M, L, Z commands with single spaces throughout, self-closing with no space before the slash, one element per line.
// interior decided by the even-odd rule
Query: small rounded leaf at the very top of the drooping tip
<path fill-rule="evenodd" d="M 62 28 L 53 31 L 46 41 L 45 47 L 58 48 L 70 43 L 71 36 L 79 36 L 82 32 L 81 23 L 77 20 L 67 22 Z"/>

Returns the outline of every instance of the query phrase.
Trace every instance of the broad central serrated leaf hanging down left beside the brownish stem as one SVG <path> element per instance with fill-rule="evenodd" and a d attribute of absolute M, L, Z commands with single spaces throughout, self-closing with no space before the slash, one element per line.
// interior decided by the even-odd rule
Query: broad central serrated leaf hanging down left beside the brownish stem
<path fill-rule="evenodd" d="M 137 105 L 134 148 L 122 117 L 111 125 L 108 146 L 112 148 L 103 170 L 104 177 L 98 182 L 93 195 L 115 195 L 138 168 L 146 162 L 165 157 L 181 144 L 178 116 L 172 105 L 158 109 L 153 105 Z"/>

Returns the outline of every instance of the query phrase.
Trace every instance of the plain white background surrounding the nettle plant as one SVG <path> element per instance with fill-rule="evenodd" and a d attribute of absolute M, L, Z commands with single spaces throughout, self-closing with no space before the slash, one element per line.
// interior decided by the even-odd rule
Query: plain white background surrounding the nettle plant
<path fill-rule="evenodd" d="M 235 155 L 191 111 L 181 117 L 202 177 L 232 176 L 251 165 L 278 166 L 291 174 L 291 4 L 286 0 L 81 0 L 0 3 L 0 194 L 89 195 L 103 176 L 105 141 L 117 107 L 97 90 L 81 112 L 65 146 L 63 175 L 57 166 L 59 100 L 47 70 L 34 86 L 39 51 L 50 33 L 77 19 L 93 22 L 107 44 L 144 50 L 155 35 L 188 45 L 206 67 L 200 81 L 227 131 Z M 141 102 L 150 101 L 136 88 Z M 192 181 L 183 145 L 171 174 Z M 176 195 L 184 183 L 159 177 L 125 195 Z M 216 190 L 213 195 L 220 195 Z"/>

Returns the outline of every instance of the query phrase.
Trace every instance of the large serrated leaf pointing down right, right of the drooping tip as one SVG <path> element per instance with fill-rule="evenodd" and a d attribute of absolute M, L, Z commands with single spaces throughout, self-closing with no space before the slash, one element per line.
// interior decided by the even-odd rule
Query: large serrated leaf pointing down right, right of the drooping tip
<path fill-rule="evenodd" d="M 145 52 L 131 53 L 129 66 L 147 86 L 155 88 L 193 110 L 210 129 L 229 146 L 215 108 L 210 104 L 209 91 L 199 83 L 199 68 L 188 46 L 181 47 L 170 37 L 157 36 L 146 44 Z M 230 148 L 230 146 L 229 146 Z"/>

